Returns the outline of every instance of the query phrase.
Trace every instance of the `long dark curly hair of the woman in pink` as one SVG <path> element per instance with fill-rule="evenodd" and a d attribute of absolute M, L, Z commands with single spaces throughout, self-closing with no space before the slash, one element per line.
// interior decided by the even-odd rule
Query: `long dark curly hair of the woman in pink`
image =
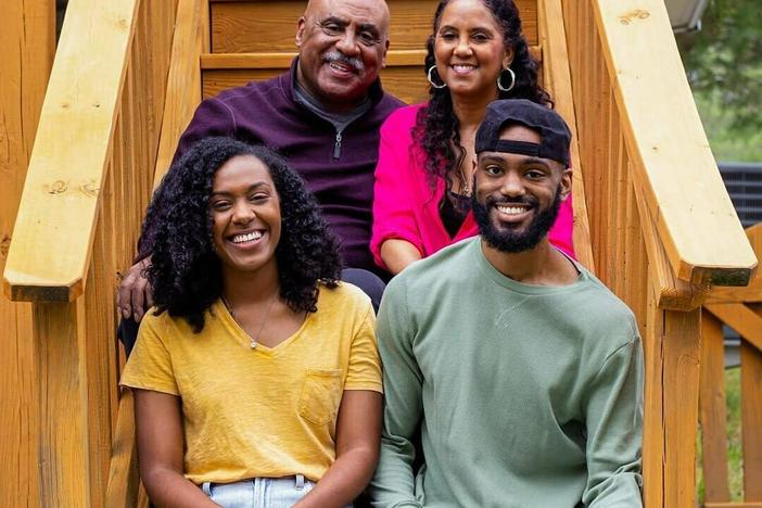
<path fill-rule="evenodd" d="M 424 72 L 436 64 L 434 40 L 440 29 L 442 13 L 452 0 L 442 0 L 434 13 L 434 27 L 426 42 Z M 498 99 L 529 99 L 553 107 L 550 94 L 537 82 L 539 64 L 530 54 L 521 31 L 521 17 L 512 0 L 481 0 L 503 29 L 506 48 L 513 48 L 510 68 L 516 73 L 516 86 L 509 92 L 498 90 Z M 497 84 L 495 85 L 497 87 Z M 426 169 L 432 182 L 443 178 L 466 155 L 460 144 L 459 123 L 453 112 L 453 99 L 447 88 L 429 87 L 429 104 L 418 112 L 412 136 L 426 154 Z M 457 153 L 456 153 L 457 152 Z"/>

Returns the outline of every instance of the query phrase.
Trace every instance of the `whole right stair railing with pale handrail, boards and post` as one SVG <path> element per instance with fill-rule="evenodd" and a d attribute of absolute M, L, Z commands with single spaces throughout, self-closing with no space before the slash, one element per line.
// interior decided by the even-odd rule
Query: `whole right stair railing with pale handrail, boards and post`
<path fill-rule="evenodd" d="M 644 499 L 696 504 L 700 305 L 748 284 L 744 234 L 660 0 L 563 0 L 596 275 L 646 354 Z"/>

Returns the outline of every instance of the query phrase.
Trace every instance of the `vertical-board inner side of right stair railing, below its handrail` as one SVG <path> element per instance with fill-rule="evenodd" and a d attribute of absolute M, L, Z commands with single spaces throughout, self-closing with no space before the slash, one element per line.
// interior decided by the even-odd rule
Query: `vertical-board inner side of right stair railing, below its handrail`
<path fill-rule="evenodd" d="M 633 309 L 643 333 L 649 261 L 619 112 L 589 2 L 562 8 L 595 272 Z"/>

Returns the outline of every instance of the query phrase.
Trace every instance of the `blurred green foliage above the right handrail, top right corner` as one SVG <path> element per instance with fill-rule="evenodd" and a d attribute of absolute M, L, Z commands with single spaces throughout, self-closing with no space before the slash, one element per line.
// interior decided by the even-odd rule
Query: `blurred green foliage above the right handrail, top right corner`
<path fill-rule="evenodd" d="M 759 0 L 710 0 L 702 29 L 677 43 L 717 157 L 762 161 Z"/>

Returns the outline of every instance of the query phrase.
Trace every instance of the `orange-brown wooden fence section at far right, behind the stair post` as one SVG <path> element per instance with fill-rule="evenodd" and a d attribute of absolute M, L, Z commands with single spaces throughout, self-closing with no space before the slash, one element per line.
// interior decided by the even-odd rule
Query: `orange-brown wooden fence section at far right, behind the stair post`
<path fill-rule="evenodd" d="M 762 257 L 762 224 L 747 230 Z M 713 292 L 701 319 L 701 444 L 707 508 L 762 507 L 762 276 L 748 288 Z M 731 503 L 723 325 L 738 332 L 740 344 L 740 412 L 744 501 Z"/>

